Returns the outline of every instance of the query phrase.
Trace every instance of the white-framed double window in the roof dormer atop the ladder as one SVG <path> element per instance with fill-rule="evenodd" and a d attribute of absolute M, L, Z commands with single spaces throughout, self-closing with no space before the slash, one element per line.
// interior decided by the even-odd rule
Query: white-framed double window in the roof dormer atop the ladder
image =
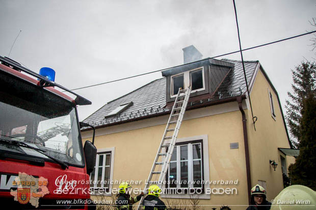
<path fill-rule="evenodd" d="M 192 87 L 191 93 L 205 89 L 204 67 L 171 76 L 170 97 L 177 95 L 179 87 L 185 89 L 188 86 Z"/>

